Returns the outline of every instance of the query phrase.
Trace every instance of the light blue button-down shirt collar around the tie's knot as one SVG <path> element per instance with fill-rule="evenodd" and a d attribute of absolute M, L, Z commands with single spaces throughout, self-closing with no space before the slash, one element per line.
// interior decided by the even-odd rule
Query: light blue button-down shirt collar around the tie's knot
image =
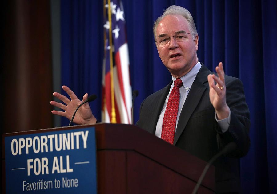
<path fill-rule="evenodd" d="M 180 79 L 183 82 L 182 87 L 184 87 L 186 91 L 189 91 L 189 89 L 191 88 L 191 85 L 194 82 L 195 77 L 196 77 L 197 73 L 199 72 L 200 68 L 201 68 L 201 64 L 198 61 L 197 64 L 191 69 L 191 71 L 189 71 L 186 75 L 180 77 Z M 176 80 L 176 78 L 172 76 L 173 83 L 175 80 Z"/>

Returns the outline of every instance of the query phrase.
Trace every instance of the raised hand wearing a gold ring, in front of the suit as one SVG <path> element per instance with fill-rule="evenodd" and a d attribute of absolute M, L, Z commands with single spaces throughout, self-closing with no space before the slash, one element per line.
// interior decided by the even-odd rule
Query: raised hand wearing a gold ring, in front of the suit
<path fill-rule="evenodd" d="M 210 101 L 215 108 L 217 118 L 221 120 L 227 118 L 230 113 L 230 109 L 226 103 L 225 73 L 222 62 L 219 62 L 218 66 L 215 68 L 215 71 L 217 72 L 218 77 L 215 74 L 208 75 Z"/>

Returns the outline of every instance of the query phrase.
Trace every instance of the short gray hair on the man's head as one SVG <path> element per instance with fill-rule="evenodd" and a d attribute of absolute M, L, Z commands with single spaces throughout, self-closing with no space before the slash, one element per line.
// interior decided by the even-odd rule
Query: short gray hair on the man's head
<path fill-rule="evenodd" d="M 157 26 L 160 23 L 160 21 L 167 15 L 181 15 L 184 18 L 186 18 L 188 25 L 189 25 L 188 28 L 190 30 L 190 33 L 194 34 L 193 38 L 195 38 L 195 35 L 197 34 L 197 30 L 196 30 L 196 27 L 195 27 L 195 24 L 193 21 L 193 17 L 191 16 L 191 13 L 183 7 L 172 5 L 172 6 L 168 7 L 166 10 L 164 10 L 161 17 L 158 17 L 156 19 L 156 21 L 154 22 L 153 33 L 154 33 L 155 41 L 156 41 Z"/>

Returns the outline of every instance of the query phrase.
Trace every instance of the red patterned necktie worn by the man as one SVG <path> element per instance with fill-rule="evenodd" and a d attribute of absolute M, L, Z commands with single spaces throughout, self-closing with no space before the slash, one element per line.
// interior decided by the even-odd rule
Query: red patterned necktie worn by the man
<path fill-rule="evenodd" d="M 167 101 L 167 109 L 163 116 L 163 126 L 161 139 L 173 144 L 175 135 L 176 119 L 179 108 L 180 92 L 179 88 L 183 85 L 182 80 L 176 79 L 174 87 Z"/>

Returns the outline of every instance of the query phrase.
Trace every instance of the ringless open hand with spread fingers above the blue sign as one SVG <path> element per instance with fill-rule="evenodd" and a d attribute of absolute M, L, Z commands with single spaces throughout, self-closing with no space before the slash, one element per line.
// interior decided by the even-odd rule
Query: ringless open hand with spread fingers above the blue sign
<path fill-rule="evenodd" d="M 59 115 L 59 116 L 63 116 L 68 118 L 69 120 L 71 120 L 73 113 L 75 111 L 75 109 L 82 103 L 84 102 L 87 97 L 88 94 L 85 94 L 83 96 L 83 101 L 81 101 L 80 99 L 77 98 L 77 96 L 74 94 L 74 92 L 72 90 L 69 89 L 69 87 L 67 86 L 62 86 L 62 89 L 70 96 L 70 99 L 68 99 L 66 96 L 61 95 L 58 92 L 54 92 L 53 96 L 57 97 L 58 99 L 60 99 L 62 102 L 64 102 L 66 105 L 62 104 L 62 103 L 58 103 L 56 101 L 51 101 L 50 104 L 61 108 L 64 111 L 51 111 L 53 114 Z M 95 124 L 96 123 L 96 118 L 93 116 L 90 106 L 88 103 L 83 104 L 78 111 L 75 114 L 75 117 L 73 119 L 73 122 L 81 125 L 81 124 Z"/>

